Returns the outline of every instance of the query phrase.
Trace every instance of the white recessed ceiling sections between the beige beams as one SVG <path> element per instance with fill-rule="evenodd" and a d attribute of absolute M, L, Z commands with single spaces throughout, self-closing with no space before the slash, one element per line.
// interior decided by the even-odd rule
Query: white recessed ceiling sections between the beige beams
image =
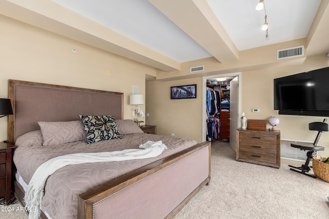
<path fill-rule="evenodd" d="M 52 1 L 179 63 L 212 56 L 147 0 Z M 264 9 L 255 10 L 258 2 L 207 0 L 239 51 L 305 38 L 321 0 L 265 0 L 269 41 L 261 30 Z"/>

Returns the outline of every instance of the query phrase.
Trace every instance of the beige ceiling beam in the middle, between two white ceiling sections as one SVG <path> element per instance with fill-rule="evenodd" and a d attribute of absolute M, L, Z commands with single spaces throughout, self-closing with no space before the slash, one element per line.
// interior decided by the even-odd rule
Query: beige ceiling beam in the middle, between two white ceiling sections
<path fill-rule="evenodd" d="M 206 0 L 149 0 L 219 62 L 239 59 L 239 51 Z"/>

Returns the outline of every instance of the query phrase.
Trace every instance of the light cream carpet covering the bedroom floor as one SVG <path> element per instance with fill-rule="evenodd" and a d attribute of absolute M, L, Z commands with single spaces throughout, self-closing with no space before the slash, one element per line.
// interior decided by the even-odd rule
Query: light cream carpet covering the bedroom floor
<path fill-rule="evenodd" d="M 275 169 L 237 162 L 228 143 L 213 142 L 210 185 L 174 218 L 328 218 L 327 196 L 329 183 L 319 178 L 290 171 L 286 164 Z M 0 211 L 0 218 L 27 218 L 17 207 Z"/>

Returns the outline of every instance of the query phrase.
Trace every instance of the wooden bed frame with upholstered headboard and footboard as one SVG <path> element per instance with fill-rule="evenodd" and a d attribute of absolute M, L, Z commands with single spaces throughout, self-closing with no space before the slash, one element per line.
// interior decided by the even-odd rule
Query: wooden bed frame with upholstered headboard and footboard
<path fill-rule="evenodd" d="M 77 120 L 77 114 L 101 115 L 111 112 L 115 118 L 123 119 L 123 93 L 11 79 L 8 83 L 14 110 L 14 115 L 9 116 L 8 132 L 9 141 L 13 144 L 18 136 L 40 129 L 36 124 L 36 118 L 38 121 L 72 121 Z M 54 100 L 53 97 L 59 101 Z M 106 106 L 103 106 L 104 103 Z M 88 107 L 90 105 L 98 107 Z M 32 109 L 27 109 L 30 107 Z M 70 109 L 69 112 L 67 109 Z M 105 112 L 99 109 L 105 109 Z M 111 206 L 114 206 L 114 203 L 129 205 L 126 201 L 129 200 L 134 189 L 145 188 L 145 186 L 150 188 L 151 192 L 136 197 L 137 200 L 145 202 L 145 208 L 148 205 L 154 206 L 156 202 L 167 203 L 168 207 L 163 209 L 151 207 L 150 210 L 142 212 L 137 209 L 132 215 L 137 216 L 139 213 L 143 218 L 156 218 L 155 215 L 161 218 L 172 218 L 200 188 L 209 185 L 210 149 L 210 142 L 197 144 L 80 194 L 78 218 L 106 218 L 108 214 L 113 218 L 118 218 L 122 216 L 122 212 L 115 212 L 115 207 L 111 209 Z M 177 171 L 180 169 L 181 171 Z M 155 184 L 156 188 L 154 188 Z M 168 193 L 168 187 L 173 188 L 170 193 Z M 181 190 L 186 191 L 181 192 Z M 166 194 L 163 194 L 163 191 Z M 17 181 L 14 181 L 14 194 L 24 206 L 25 192 Z M 161 198 L 158 198 L 158 195 Z M 134 206 L 125 207 L 130 209 Z M 43 212 L 41 217 L 47 218 Z"/>

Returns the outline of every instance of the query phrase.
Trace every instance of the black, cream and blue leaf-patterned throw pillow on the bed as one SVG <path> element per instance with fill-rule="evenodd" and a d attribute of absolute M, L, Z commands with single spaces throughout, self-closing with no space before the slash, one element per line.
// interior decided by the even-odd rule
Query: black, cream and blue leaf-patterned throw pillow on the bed
<path fill-rule="evenodd" d="M 79 115 L 79 117 L 84 125 L 87 144 L 122 138 L 112 115 Z"/>

